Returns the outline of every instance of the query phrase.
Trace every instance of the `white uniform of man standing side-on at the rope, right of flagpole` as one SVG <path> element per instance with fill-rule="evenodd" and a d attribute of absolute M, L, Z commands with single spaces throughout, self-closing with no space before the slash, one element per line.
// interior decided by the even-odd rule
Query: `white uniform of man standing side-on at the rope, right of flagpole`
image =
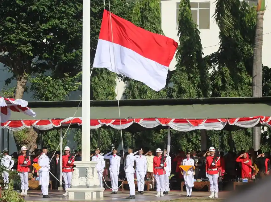
<path fill-rule="evenodd" d="M 124 171 L 126 173 L 126 179 L 129 184 L 130 196 L 136 195 L 136 187 L 135 187 L 135 181 L 134 181 L 134 174 L 135 174 L 134 164 L 135 164 L 135 156 L 133 153 L 130 153 L 126 156 L 125 167 L 124 167 Z"/>

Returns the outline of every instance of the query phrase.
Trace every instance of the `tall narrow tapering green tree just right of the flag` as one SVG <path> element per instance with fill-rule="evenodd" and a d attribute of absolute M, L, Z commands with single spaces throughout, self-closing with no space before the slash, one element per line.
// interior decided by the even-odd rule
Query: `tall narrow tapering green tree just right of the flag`
<path fill-rule="evenodd" d="M 200 32 L 193 22 L 189 0 L 181 0 L 179 6 L 179 46 L 176 53 L 176 70 L 170 79 L 172 98 L 209 97 L 208 66 L 202 57 Z"/>

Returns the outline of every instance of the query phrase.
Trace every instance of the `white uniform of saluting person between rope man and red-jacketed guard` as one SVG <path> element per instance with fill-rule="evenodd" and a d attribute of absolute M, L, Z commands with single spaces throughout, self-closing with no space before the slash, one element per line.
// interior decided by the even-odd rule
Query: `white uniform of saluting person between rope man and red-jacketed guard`
<path fill-rule="evenodd" d="M 147 174 L 147 158 L 144 155 L 136 155 L 136 178 L 139 192 L 144 191 L 145 175 Z"/>

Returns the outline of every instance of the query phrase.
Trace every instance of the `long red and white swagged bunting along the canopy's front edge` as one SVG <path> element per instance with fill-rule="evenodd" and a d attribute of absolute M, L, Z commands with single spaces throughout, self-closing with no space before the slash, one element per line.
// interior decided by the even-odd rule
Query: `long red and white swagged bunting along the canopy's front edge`
<path fill-rule="evenodd" d="M 12 131 L 19 131 L 24 128 L 34 127 L 41 131 L 57 129 L 59 127 L 68 127 L 71 125 L 81 125 L 80 118 L 67 119 L 50 119 L 50 120 L 12 120 L 6 123 L 1 123 L 1 127 L 8 128 Z M 169 119 L 169 118 L 142 118 L 142 119 L 91 119 L 90 129 L 97 129 L 103 125 L 110 126 L 120 130 L 130 127 L 132 124 L 138 124 L 145 128 L 154 128 L 159 125 L 171 127 L 176 131 L 192 131 L 192 130 L 222 130 L 227 124 L 231 126 L 251 128 L 256 125 L 271 127 L 271 117 L 269 116 L 254 116 L 246 118 L 232 119 Z"/>

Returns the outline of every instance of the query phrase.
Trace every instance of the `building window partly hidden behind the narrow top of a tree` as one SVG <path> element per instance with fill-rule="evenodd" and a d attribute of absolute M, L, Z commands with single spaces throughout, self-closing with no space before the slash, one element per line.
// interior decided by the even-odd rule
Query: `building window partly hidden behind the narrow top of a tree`
<path fill-rule="evenodd" d="M 177 29 L 179 26 L 179 6 L 176 4 Z M 210 2 L 191 2 L 191 14 L 193 21 L 198 25 L 199 30 L 210 29 Z"/>

